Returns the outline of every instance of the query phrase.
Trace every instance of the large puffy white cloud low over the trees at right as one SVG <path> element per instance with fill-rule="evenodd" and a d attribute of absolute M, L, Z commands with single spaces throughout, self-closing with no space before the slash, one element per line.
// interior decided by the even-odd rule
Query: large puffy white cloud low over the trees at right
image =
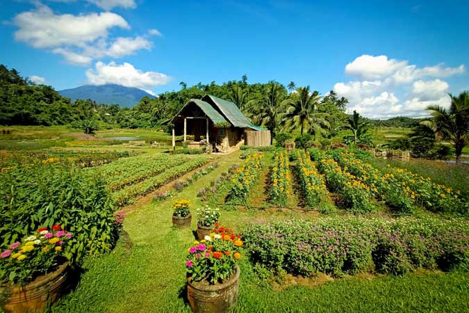
<path fill-rule="evenodd" d="M 450 86 L 441 78 L 465 71 L 464 65 L 418 67 L 387 56 L 363 55 L 345 66 L 345 73 L 356 80 L 336 83 L 334 90 L 349 99 L 349 111 L 369 118 L 422 116 L 430 104 L 449 105 Z"/>

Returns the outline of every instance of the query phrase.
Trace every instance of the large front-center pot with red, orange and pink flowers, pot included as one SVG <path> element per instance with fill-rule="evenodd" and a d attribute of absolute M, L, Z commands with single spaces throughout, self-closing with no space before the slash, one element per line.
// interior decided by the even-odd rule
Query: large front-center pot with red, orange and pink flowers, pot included
<path fill-rule="evenodd" d="M 188 300 L 194 312 L 230 312 L 238 300 L 241 236 L 225 227 L 189 248 Z"/>

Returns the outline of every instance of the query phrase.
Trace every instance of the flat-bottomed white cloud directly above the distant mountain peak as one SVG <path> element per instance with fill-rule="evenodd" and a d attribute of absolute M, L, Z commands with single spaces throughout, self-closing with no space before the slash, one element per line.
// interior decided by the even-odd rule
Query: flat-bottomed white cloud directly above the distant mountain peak
<path fill-rule="evenodd" d="M 94 65 L 94 69 L 86 71 L 86 77 L 88 78 L 88 83 L 92 85 L 117 83 L 118 85 L 140 89 L 151 88 L 156 85 L 165 85 L 170 81 L 170 77 L 166 74 L 142 72 L 126 62 L 122 65 L 115 62 L 110 62 L 109 64 L 97 62 Z"/>

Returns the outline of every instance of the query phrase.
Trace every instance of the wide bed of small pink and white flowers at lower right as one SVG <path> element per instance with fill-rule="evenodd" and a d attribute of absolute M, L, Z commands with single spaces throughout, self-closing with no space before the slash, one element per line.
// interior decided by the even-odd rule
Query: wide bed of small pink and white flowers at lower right
<path fill-rule="evenodd" d="M 272 273 L 402 274 L 469 265 L 469 228 L 456 219 L 289 220 L 252 225 L 242 236 L 254 263 Z"/>

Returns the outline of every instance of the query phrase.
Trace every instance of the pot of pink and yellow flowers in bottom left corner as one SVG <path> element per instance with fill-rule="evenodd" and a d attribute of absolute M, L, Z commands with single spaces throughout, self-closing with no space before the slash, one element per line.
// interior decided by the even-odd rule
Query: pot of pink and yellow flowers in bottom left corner
<path fill-rule="evenodd" d="M 0 255 L 0 304 L 4 312 L 42 312 L 66 287 L 67 243 L 60 225 L 41 227 Z"/>

